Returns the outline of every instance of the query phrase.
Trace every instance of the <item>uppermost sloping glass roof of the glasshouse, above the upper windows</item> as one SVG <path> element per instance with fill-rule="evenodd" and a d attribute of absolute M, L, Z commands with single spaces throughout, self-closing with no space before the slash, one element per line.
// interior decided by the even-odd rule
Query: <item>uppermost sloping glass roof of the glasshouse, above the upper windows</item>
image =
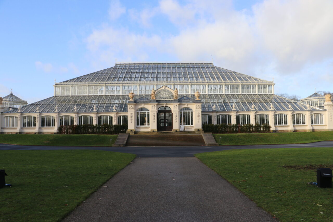
<path fill-rule="evenodd" d="M 116 63 L 114 67 L 56 83 L 273 83 L 212 63 Z"/>

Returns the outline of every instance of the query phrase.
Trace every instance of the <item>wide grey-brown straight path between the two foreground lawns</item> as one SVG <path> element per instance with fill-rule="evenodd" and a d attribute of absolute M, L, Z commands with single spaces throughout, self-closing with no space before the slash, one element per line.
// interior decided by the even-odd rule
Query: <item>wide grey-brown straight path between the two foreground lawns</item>
<path fill-rule="evenodd" d="M 63 222 L 277 221 L 195 157 L 136 158 L 103 186 Z"/>

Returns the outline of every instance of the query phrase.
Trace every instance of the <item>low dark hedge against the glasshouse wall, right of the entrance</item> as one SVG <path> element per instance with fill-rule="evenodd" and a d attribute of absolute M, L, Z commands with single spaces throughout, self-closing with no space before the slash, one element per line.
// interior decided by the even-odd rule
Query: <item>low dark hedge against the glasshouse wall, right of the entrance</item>
<path fill-rule="evenodd" d="M 268 124 L 205 124 L 202 125 L 204 132 L 211 133 L 252 133 L 252 132 L 270 132 L 271 126 Z"/>

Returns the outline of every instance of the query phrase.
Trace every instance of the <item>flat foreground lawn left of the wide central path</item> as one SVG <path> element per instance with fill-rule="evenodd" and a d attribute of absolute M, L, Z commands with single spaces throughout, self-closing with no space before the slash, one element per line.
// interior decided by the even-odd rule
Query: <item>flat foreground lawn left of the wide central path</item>
<path fill-rule="evenodd" d="M 100 150 L 0 151 L 0 221 L 60 221 L 135 154 Z M 108 189 L 108 188 L 103 188 Z"/>

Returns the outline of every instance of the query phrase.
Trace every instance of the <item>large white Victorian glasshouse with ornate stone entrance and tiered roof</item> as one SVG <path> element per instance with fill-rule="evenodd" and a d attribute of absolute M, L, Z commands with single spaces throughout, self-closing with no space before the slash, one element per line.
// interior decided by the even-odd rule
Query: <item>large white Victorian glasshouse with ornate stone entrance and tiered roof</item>
<path fill-rule="evenodd" d="M 54 96 L 1 106 L 1 133 L 56 133 L 60 125 L 127 124 L 135 131 L 201 131 L 204 124 L 269 124 L 271 131 L 333 130 L 322 107 L 274 95 L 274 83 L 212 63 L 116 63 L 54 84 Z M 314 106 L 313 106 L 314 105 Z"/>

